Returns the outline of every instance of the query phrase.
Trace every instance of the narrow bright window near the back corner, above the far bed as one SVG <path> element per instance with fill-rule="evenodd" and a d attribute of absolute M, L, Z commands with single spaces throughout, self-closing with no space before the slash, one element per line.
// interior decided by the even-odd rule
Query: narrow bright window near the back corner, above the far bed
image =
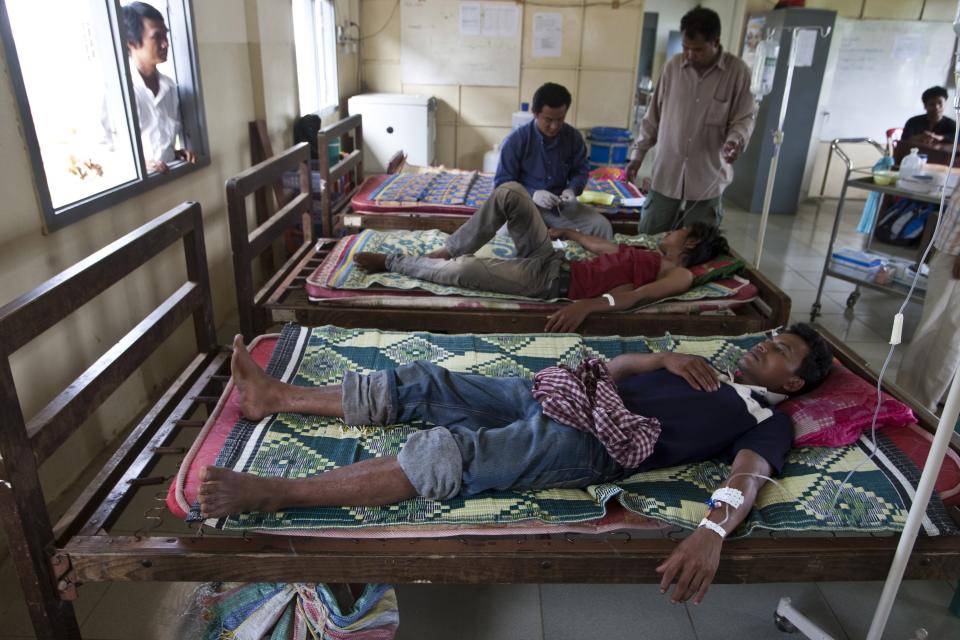
<path fill-rule="evenodd" d="M 293 0 L 300 115 L 325 116 L 340 102 L 333 0 Z"/>

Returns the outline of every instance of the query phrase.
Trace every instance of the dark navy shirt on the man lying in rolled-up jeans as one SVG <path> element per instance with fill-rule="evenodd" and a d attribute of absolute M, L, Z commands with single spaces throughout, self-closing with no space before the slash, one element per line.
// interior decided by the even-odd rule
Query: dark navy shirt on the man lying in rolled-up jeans
<path fill-rule="evenodd" d="M 789 416 L 771 408 L 772 415 L 757 422 L 727 384 L 719 391 L 697 391 L 680 376 L 658 369 L 618 381 L 617 391 L 628 410 L 660 421 L 660 438 L 639 471 L 714 458 L 729 461 L 749 449 L 779 473 L 793 443 Z"/>

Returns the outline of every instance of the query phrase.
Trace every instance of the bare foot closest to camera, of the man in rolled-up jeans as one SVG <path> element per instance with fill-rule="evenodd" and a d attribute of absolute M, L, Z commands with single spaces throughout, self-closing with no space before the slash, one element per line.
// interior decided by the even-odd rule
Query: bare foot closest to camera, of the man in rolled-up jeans
<path fill-rule="evenodd" d="M 275 484 L 276 478 L 205 466 L 200 470 L 200 513 L 204 518 L 225 518 L 245 511 L 277 511 L 282 505 Z"/>

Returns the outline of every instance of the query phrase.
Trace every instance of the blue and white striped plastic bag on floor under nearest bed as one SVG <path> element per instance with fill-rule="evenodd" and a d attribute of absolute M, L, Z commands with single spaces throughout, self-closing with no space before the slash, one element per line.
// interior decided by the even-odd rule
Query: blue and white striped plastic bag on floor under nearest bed
<path fill-rule="evenodd" d="M 386 584 L 368 584 L 341 613 L 322 583 L 241 584 L 202 598 L 204 640 L 392 640 L 400 624 L 397 596 Z"/>

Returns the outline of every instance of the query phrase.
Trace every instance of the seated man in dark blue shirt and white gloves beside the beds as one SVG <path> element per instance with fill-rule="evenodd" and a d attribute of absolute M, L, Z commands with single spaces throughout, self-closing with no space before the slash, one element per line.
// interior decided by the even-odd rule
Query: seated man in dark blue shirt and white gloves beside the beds
<path fill-rule="evenodd" d="M 587 147 L 580 132 L 564 122 L 573 98 L 548 82 L 533 94 L 533 121 L 510 133 L 500 150 L 494 186 L 519 182 L 550 228 L 576 229 L 613 239 L 613 227 L 596 209 L 577 201 L 587 186 Z"/>

